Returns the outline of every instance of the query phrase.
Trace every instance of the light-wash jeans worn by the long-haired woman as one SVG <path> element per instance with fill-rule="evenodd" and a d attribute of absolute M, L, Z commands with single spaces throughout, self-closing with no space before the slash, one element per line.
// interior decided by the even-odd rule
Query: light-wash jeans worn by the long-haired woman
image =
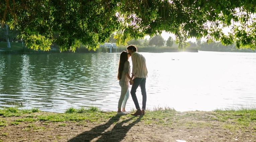
<path fill-rule="evenodd" d="M 129 82 L 119 81 L 119 85 L 121 86 L 121 95 L 118 101 L 118 109 L 121 109 L 121 105 L 125 108 L 126 102 L 129 98 Z"/>

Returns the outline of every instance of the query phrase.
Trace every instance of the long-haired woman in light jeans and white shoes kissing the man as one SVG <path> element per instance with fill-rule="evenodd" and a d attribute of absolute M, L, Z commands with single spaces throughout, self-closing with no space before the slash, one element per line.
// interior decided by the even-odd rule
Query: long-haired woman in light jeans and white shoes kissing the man
<path fill-rule="evenodd" d="M 117 115 L 125 115 L 129 113 L 125 111 L 125 105 L 127 99 L 129 98 L 129 81 L 131 80 L 130 82 L 133 82 L 133 79 L 130 77 L 131 69 L 130 62 L 128 61 L 129 57 L 130 55 L 125 51 L 120 54 L 117 79 L 119 80 L 119 85 L 121 86 L 121 95 L 118 101 Z"/>

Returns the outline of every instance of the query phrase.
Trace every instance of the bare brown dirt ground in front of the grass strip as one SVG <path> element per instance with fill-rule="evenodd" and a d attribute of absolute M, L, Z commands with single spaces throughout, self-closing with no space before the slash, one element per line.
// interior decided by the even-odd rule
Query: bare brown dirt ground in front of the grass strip
<path fill-rule="evenodd" d="M 20 122 L 18 125 L 0 127 L 0 142 L 255 142 L 251 127 L 232 127 L 232 122 L 221 122 L 208 113 L 196 113 L 201 117 L 184 117 L 173 121 L 171 126 L 145 124 L 141 117 L 104 122 Z M 147 114 L 146 114 L 147 115 Z M 180 115 L 185 115 L 184 113 Z M 15 121 L 17 117 L 1 117 L 5 121 Z M 189 123 L 188 123 L 189 122 Z M 181 141 L 182 142 L 182 141 Z"/>

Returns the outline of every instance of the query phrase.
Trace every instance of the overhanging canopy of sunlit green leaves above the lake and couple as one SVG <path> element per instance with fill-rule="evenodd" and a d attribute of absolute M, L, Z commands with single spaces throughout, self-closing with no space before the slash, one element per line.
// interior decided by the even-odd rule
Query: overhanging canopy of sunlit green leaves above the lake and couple
<path fill-rule="evenodd" d="M 188 38 L 206 37 L 238 48 L 256 48 L 256 0 L 5 0 L 0 23 L 20 30 L 32 49 L 61 51 L 79 44 L 95 50 L 112 33 L 117 44 L 162 31 L 175 34 L 182 48 Z M 224 34 L 223 28 L 230 29 Z"/>

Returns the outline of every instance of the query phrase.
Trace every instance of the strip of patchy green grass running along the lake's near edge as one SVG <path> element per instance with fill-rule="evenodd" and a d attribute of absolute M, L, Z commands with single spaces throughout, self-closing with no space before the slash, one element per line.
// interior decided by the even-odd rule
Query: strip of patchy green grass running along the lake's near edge
<path fill-rule="evenodd" d="M 116 112 L 103 112 L 99 108 L 91 106 L 88 108 L 75 109 L 68 108 L 65 113 L 41 113 L 38 109 L 22 110 L 16 107 L 0 109 L 1 117 L 16 117 L 15 120 L 0 119 L 0 128 L 8 125 L 19 125 L 20 123 L 28 123 L 28 130 L 44 130 L 44 127 L 36 126 L 36 121 L 44 121 L 43 125 L 51 125 L 59 123 L 58 127 L 66 127 L 70 122 L 76 122 L 76 125 L 87 126 L 87 123 L 96 122 L 103 123 L 111 120 L 113 123 L 125 121 L 126 119 L 136 120 L 137 117 L 132 115 L 117 116 Z M 0 118 L 1 118 L 0 117 Z M 112 119 L 110 119 L 112 118 Z M 119 120 L 120 119 L 120 120 Z M 252 127 L 252 131 L 256 133 L 256 109 L 239 109 L 239 110 L 220 110 L 211 112 L 188 111 L 178 112 L 169 107 L 158 107 L 153 110 L 147 110 L 146 115 L 139 120 L 145 125 L 156 125 L 157 127 L 175 126 L 185 127 L 187 129 L 198 129 L 202 127 L 212 127 L 212 123 L 218 123 L 220 127 L 231 131 L 242 130 Z"/>

